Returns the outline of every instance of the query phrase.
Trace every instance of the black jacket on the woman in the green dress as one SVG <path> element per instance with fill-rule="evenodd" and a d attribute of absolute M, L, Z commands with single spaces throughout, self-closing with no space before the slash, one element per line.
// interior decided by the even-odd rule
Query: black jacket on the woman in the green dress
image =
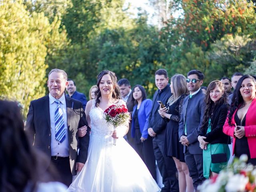
<path fill-rule="evenodd" d="M 211 118 L 211 132 L 207 133 L 208 125 L 201 128 L 201 132 L 203 136 L 206 137 L 204 139 L 206 142 L 211 144 L 215 143 L 223 143 L 223 144 L 230 144 L 230 137 L 222 132 L 224 123 L 226 121 L 226 117 L 228 114 L 229 104 L 223 103 L 215 107 L 214 112 Z M 229 140 L 229 142 L 228 142 Z"/>

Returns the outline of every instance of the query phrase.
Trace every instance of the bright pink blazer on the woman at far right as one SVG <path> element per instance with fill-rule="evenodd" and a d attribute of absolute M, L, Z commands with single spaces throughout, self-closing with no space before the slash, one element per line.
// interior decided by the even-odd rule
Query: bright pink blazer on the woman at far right
<path fill-rule="evenodd" d="M 236 110 L 237 111 L 237 110 Z M 235 124 L 234 112 L 232 116 L 232 124 Z M 226 118 L 226 122 L 223 126 L 223 132 L 229 136 L 234 137 L 234 129 L 235 126 L 230 126 L 228 124 L 228 118 Z M 248 108 L 244 126 L 245 136 L 248 139 L 248 146 L 250 150 L 251 158 L 256 158 L 256 98 L 252 101 L 250 107 Z M 234 155 L 234 146 L 236 143 L 236 138 L 233 139 L 233 155 Z"/>

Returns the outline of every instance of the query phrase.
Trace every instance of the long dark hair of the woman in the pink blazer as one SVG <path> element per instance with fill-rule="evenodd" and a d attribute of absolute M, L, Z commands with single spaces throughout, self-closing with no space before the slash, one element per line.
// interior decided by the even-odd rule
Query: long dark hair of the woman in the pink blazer
<path fill-rule="evenodd" d="M 233 93 L 233 96 L 232 96 L 230 110 L 229 110 L 229 113 L 228 113 L 228 124 L 230 126 L 232 126 L 232 121 L 231 120 L 232 120 L 232 116 L 233 116 L 234 112 L 236 111 L 236 109 L 238 109 L 238 107 L 240 105 L 242 105 L 242 106 L 245 105 L 244 99 L 243 99 L 243 97 L 240 93 L 240 88 L 241 88 L 243 80 L 245 80 L 247 78 L 250 78 L 254 82 L 254 84 L 256 84 L 256 80 L 250 75 L 244 75 L 238 80 L 238 82 L 236 84 L 236 89 L 234 90 L 234 93 Z"/>

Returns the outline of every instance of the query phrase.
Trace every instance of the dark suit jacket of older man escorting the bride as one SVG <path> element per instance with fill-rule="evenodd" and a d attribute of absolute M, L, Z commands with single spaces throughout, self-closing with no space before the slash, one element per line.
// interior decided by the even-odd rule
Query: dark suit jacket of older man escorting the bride
<path fill-rule="evenodd" d="M 84 137 L 78 139 L 78 128 L 86 125 L 86 116 L 82 103 L 69 97 L 66 98 L 67 107 L 67 125 L 68 125 L 68 143 L 70 169 L 73 175 L 76 175 L 76 162 L 85 163 L 88 155 L 89 130 Z M 89 126 L 88 126 L 89 128 Z M 89 128 L 90 129 L 90 128 Z M 48 157 L 48 163 L 51 160 L 51 128 L 50 128 L 50 107 L 49 95 L 33 100 L 30 103 L 25 125 L 25 132 L 32 140 L 33 146 L 40 149 Z M 77 146 L 79 142 L 79 155 L 77 155 Z"/>

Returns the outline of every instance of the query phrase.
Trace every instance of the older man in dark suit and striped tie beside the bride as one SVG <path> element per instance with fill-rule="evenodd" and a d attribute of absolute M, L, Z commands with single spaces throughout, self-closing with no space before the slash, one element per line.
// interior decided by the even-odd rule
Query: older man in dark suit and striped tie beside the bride
<path fill-rule="evenodd" d="M 48 164 L 56 166 L 60 181 L 69 186 L 87 159 L 89 131 L 78 139 L 78 128 L 88 124 L 82 103 L 64 94 L 68 86 L 66 72 L 51 70 L 47 86 L 50 94 L 30 103 L 25 131 L 33 146 L 47 155 Z"/>

